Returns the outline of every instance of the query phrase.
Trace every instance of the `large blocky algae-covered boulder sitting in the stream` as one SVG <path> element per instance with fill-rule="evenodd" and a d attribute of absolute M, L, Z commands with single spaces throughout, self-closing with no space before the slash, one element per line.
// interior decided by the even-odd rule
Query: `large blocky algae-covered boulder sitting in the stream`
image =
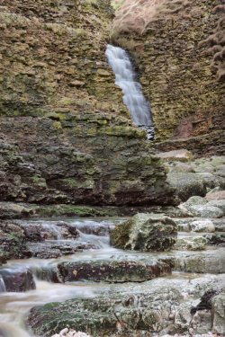
<path fill-rule="evenodd" d="M 169 250 L 177 235 L 175 221 L 163 214 L 139 213 L 115 226 L 111 232 L 112 245 L 142 252 Z"/>

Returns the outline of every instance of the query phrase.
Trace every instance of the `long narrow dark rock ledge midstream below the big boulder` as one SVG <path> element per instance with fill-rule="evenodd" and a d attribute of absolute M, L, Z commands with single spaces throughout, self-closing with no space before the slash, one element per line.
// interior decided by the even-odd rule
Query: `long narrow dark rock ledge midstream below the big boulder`
<path fill-rule="evenodd" d="M 154 259 L 62 262 L 58 264 L 57 273 L 62 282 L 82 279 L 96 282 L 142 282 L 171 273 L 171 263 Z"/>

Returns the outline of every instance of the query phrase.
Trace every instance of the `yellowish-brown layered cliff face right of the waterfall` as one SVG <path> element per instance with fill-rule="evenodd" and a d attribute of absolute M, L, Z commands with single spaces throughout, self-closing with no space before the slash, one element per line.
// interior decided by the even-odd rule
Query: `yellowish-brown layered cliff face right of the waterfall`
<path fill-rule="evenodd" d="M 224 5 L 133 0 L 116 12 L 112 40 L 130 51 L 153 110 L 158 147 L 222 153 Z"/>

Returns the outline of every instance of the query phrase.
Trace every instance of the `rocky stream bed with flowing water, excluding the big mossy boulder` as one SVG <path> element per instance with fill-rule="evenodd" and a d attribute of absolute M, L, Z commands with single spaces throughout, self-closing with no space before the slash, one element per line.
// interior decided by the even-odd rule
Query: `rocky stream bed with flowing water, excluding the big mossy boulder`
<path fill-rule="evenodd" d="M 26 244 L 0 267 L 1 335 L 223 335 L 224 217 L 174 218 L 176 244 L 157 253 L 110 245 L 125 220 L 12 220 Z"/>

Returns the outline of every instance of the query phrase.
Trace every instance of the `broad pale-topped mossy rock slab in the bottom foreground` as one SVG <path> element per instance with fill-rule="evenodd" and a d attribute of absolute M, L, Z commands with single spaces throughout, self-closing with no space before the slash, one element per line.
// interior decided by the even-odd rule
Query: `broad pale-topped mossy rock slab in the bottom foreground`
<path fill-rule="evenodd" d="M 206 291 L 220 288 L 220 282 L 221 276 L 209 275 L 152 279 L 141 285 L 121 284 L 114 290 L 116 285 L 112 285 L 111 291 L 105 288 L 96 297 L 34 307 L 28 324 L 35 334 L 46 337 L 66 325 L 94 337 L 184 334 L 190 328 L 193 333 L 208 333 L 214 324 L 211 310 L 191 315 L 191 308 L 197 306 Z"/>

